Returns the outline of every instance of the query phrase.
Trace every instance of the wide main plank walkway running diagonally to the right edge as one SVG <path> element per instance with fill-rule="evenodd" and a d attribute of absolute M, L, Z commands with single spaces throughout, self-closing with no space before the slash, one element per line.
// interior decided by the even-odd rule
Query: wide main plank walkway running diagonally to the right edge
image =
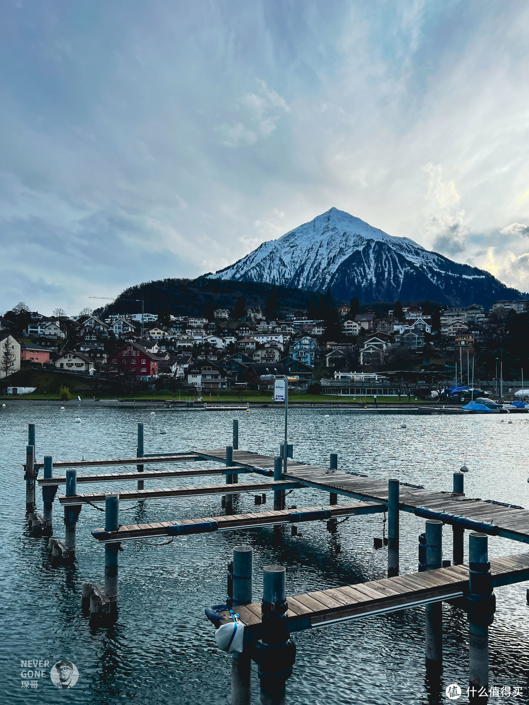
<path fill-rule="evenodd" d="M 202 458 L 208 460 L 225 460 L 226 451 L 197 450 Z M 233 451 L 233 464 L 244 467 L 269 470 L 274 467 L 274 458 L 246 450 Z M 300 482 L 305 487 L 313 487 L 341 496 L 352 497 L 373 502 L 388 501 L 387 481 L 358 477 L 340 470 L 333 472 L 317 465 L 304 465 L 288 460 L 286 477 Z M 425 518 L 439 518 L 446 524 L 461 523 L 461 519 L 476 522 L 475 529 L 486 534 L 504 537 L 513 541 L 529 544 L 529 511 L 509 507 L 499 503 L 490 503 L 481 499 L 472 499 L 451 492 L 433 492 L 401 484 L 400 508 Z"/>

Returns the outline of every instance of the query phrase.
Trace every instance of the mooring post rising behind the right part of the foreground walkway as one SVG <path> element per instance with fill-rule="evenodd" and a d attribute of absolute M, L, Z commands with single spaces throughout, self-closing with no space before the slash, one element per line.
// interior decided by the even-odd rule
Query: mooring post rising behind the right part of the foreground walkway
<path fill-rule="evenodd" d="M 437 570 L 443 565 L 442 548 L 443 522 L 437 519 L 426 520 L 426 570 Z M 426 665 L 441 668 L 443 660 L 443 606 L 434 602 L 425 606 Z"/>

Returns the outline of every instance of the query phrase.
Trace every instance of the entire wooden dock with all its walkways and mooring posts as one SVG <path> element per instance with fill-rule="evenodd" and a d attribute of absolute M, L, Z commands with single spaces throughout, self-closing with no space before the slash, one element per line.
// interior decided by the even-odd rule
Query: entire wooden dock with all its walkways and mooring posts
<path fill-rule="evenodd" d="M 469 682 L 483 689 L 488 682 L 488 628 L 494 620 L 496 602 L 494 589 L 529 580 L 529 553 L 488 560 L 488 537 L 497 536 L 529 544 L 529 511 L 516 505 L 468 498 L 464 493 L 464 474 L 454 472 L 453 486 L 447 491 L 431 491 L 423 486 L 401 483 L 398 479 L 372 479 L 353 472 L 339 470 L 337 453 L 331 453 L 329 467 L 297 462 L 291 458 L 292 446 L 281 445 L 276 457 L 238 449 L 238 421 L 233 420 L 233 442 L 226 448 L 201 448 L 185 453 L 145 453 L 143 424 L 138 424 L 138 446 L 135 455 L 122 458 L 99 458 L 54 462 L 46 456 L 35 458 L 35 426 L 29 424 L 28 446 L 24 464 L 26 510 L 35 536 L 53 533 L 53 504 L 59 486 L 66 485 L 59 495 L 64 515 L 65 537 L 49 538 L 51 560 L 72 563 L 76 560 L 77 522 L 83 505 L 104 502 L 104 526 L 92 529 L 92 537 L 104 546 L 104 584 L 83 583 L 82 607 L 90 620 L 104 624 L 118 614 L 118 553 L 124 541 L 169 537 L 170 543 L 181 536 L 207 534 L 226 530 L 274 527 L 276 539 L 289 526 L 291 535 L 298 525 L 310 527 L 310 522 L 327 522 L 329 532 L 339 531 L 339 519 L 376 513 L 387 514 L 387 577 L 337 587 L 317 586 L 304 594 L 288 596 L 285 569 L 279 565 L 263 568 L 263 596 L 253 601 L 253 548 L 233 547 L 233 562 L 229 564 L 225 604 L 206 608 L 206 615 L 217 627 L 217 636 L 224 630 L 231 637 L 217 643 L 219 648 L 233 653 L 231 684 L 232 704 L 250 705 L 251 661 L 259 664 L 262 702 L 284 704 L 285 682 L 292 673 L 296 649 L 291 632 L 382 615 L 405 608 L 425 608 L 425 654 L 430 667 L 442 667 L 442 602 L 449 602 L 466 613 L 469 624 Z M 147 470 L 147 464 L 182 463 L 183 467 Z M 135 472 L 96 472 L 80 474 L 90 467 L 135 465 Z M 207 466 L 207 467 L 205 467 Z M 37 477 L 44 469 L 44 477 Z M 54 470 L 61 471 L 54 477 Z M 463 470 L 466 470 L 463 468 Z M 220 484 L 197 486 L 149 487 L 145 481 L 176 479 L 193 476 L 221 476 Z M 245 481 L 239 482 L 239 475 Z M 256 477 L 258 476 L 258 477 Z M 120 488 L 111 492 L 78 493 L 78 483 L 128 484 L 137 482 L 137 489 Z M 35 488 L 42 489 L 44 513 L 37 513 Z M 130 484 L 128 485 L 130 487 Z M 313 489 L 324 493 L 321 504 L 299 508 L 286 507 L 286 492 Z M 265 503 L 267 493 L 273 493 L 273 509 L 251 513 L 236 511 L 237 498 L 254 494 L 255 505 Z M 178 502 L 182 497 L 221 496 L 224 513 L 215 516 L 169 521 L 150 521 L 121 525 L 119 509 L 122 502 L 140 502 L 145 510 L 148 501 L 163 499 Z M 341 503 L 339 503 L 341 498 Z M 144 506 L 145 503 L 145 506 Z M 401 512 L 425 519 L 425 532 L 418 540 L 419 571 L 401 575 L 399 565 L 399 534 Z M 384 516 L 385 525 L 385 516 Z M 443 527 L 451 527 L 451 560 L 442 553 Z M 62 520 L 61 520 L 62 528 Z M 468 532 L 468 565 L 463 562 L 463 541 Z M 310 528 L 305 532 L 310 537 Z M 379 542 L 378 545 L 376 542 Z M 382 548 L 383 539 L 375 538 L 375 547 Z M 164 544 L 159 544 L 164 545 Z M 225 586 L 219 586 L 219 594 Z M 234 614 L 238 617 L 234 617 Z M 238 622 L 236 621 L 238 620 Z M 237 624 L 245 627 L 245 637 L 231 651 Z M 224 644 L 224 646 L 221 646 Z M 235 648 L 235 647 L 234 647 Z M 276 695 L 274 695 L 274 693 Z M 270 696 L 270 697 L 269 697 Z M 277 696 L 277 697 L 276 697 Z M 479 702 L 485 700 L 480 699 Z"/>

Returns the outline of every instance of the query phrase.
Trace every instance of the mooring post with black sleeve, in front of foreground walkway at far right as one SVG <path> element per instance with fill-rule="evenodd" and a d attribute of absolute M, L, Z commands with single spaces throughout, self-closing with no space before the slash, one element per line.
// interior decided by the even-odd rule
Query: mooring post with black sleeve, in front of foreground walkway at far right
<path fill-rule="evenodd" d="M 468 536 L 468 611 L 469 700 L 482 702 L 489 685 L 489 625 L 494 620 L 496 596 L 492 591 L 487 534 Z M 486 702 L 486 700 L 485 700 Z"/>

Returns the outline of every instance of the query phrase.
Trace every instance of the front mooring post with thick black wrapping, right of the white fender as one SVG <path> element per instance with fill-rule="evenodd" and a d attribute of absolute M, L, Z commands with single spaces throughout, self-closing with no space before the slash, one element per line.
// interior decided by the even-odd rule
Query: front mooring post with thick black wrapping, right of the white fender
<path fill-rule="evenodd" d="M 292 675 L 296 646 L 290 640 L 286 611 L 285 569 L 263 568 L 259 680 L 261 705 L 285 705 L 285 682 Z"/>

